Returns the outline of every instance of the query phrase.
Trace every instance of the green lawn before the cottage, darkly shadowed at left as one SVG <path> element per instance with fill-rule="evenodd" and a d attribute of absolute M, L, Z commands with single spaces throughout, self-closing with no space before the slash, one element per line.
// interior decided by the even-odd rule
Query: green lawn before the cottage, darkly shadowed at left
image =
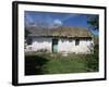
<path fill-rule="evenodd" d="M 25 55 L 25 75 L 86 73 L 85 54 L 34 53 Z"/>

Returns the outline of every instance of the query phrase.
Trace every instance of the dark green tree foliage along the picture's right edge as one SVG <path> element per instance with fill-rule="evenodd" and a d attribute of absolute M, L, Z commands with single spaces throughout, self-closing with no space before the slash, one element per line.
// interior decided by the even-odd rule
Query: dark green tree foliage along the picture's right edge
<path fill-rule="evenodd" d="M 98 15 L 88 15 L 87 23 L 92 27 L 93 30 L 99 30 L 99 16 Z M 88 66 L 88 71 L 99 71 L 99 37 L 98 35 L 94 35 L 94 53 L 87 54 L 86 64 Z"/>

